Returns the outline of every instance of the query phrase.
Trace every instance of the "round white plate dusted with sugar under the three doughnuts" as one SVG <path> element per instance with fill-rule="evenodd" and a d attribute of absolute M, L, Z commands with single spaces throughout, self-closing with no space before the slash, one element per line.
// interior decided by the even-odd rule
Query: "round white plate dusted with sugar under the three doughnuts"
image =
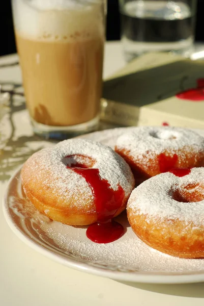
<path fill-rule="evenodd" d="M 106 130 L 83 136 L 114 146 L 127 129 Z M 204 134 L 202 131 L 200 134 Z M 142 283 L 195 283 L 204 281 L 204 260 L 179 259 L 147 246 L 132 232 L 124 212 L 117 219 L 125 235 L 109 244 L 86 238 L 86 226 L 51 221 L 25 198 L 20 170 L 9 181 L 4 214 L 13 232 L 27 245 L 56 262 L 81 271 L 121 281 Z"/>

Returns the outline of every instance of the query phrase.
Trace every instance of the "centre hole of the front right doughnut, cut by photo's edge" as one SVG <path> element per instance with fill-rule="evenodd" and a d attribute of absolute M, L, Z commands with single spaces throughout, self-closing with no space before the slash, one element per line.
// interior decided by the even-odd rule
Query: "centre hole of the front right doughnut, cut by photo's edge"
<path fill-rule="evenodd" d="M 204 186 L 199 183 L 181 186 L 171 191 L 171 196 L 178 202 L 199 202 L 204 200 Z"/>

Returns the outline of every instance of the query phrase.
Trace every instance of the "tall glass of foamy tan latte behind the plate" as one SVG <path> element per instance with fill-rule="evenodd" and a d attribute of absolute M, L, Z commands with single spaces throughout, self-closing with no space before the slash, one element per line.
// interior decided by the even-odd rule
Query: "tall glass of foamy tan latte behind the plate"
<path fill-rule="evenodd" d="M 105 0 L 12 0 L 12 7 L 34 132 L 62 139 L 96 130 Z"/>

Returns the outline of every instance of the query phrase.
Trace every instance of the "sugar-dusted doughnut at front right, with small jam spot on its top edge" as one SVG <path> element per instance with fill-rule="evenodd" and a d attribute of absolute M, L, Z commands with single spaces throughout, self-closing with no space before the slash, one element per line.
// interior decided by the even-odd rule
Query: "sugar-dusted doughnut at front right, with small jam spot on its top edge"
<path fill-rule="evenodd" d="M 171 172 L 133 190 L 127 204 L 129 223 L 143 242 L 161 252 L 203 258 L 204 168 Z"/>

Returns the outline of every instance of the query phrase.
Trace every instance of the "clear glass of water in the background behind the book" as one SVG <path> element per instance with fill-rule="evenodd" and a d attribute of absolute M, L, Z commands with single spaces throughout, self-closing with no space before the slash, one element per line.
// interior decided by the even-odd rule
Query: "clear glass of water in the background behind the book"
<path fill-rule="evenodd" d="M 119 0 L 125 59 L 146 52 L 193 52 L 197 0 Z"/>

